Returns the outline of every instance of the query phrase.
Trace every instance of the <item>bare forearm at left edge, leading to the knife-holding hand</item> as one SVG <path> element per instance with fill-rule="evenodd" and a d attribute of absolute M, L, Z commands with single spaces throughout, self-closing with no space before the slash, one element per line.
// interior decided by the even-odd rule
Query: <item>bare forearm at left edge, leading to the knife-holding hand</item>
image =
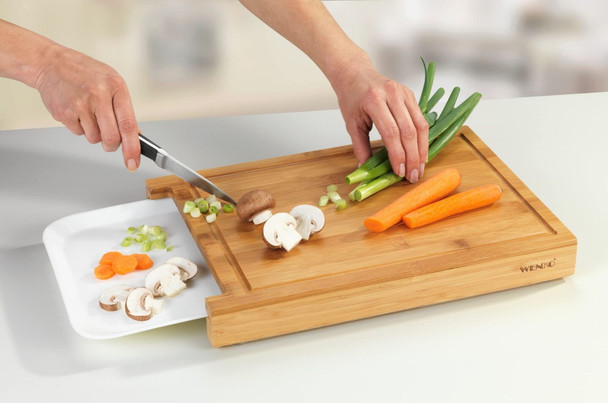
<path fill-rule="evenodd" d="M 0 77 L 35 87 L 44 60 L 57 46 L 43 36 L 0 19 Z"/>

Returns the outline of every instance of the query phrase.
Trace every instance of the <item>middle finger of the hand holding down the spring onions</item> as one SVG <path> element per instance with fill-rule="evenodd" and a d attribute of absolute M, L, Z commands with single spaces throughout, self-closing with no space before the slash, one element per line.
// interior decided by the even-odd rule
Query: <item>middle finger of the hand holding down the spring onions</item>
<path fill-rule="evenodd" d="M 418 182 L 420 156 L 418 152 L 418 133 L 405 107 L 403 93 L 397 89 L 387 91 L 388 107 L 399 126 L 401 144 L 405 150 L 405 177 L 411 182 Z"/>

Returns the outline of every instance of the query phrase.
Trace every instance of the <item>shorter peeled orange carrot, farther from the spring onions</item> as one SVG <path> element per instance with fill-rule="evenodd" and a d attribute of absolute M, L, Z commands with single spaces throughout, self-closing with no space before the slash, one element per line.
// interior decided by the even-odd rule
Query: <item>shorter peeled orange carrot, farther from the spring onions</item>
<path fill-rule="evenodd" d="M 403 222 L 409 228 L 421 227 L 458 213 L 488 206 L 501 196 L 502 189 L 498 185 L 479 186 L 411 211 L 403 216 Z"/>

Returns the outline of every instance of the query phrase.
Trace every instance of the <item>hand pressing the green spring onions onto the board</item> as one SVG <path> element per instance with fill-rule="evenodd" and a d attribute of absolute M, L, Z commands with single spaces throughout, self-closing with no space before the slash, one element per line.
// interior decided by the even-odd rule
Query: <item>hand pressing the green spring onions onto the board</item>
<path fill-rule="evenodd" d="M 375 124 L 393 172 L 412 183 L 424 174 L 429 125 L 412 91 L 380 74 L 369 60 L 344 65 L 331 80 L 359 163 L 371 156 L 369 131 Z"/>

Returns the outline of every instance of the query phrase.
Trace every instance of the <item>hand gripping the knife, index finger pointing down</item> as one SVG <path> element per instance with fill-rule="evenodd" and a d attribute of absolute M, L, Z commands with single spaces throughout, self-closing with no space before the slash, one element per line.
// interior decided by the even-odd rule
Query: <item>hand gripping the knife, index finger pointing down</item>
<path fill-rule="evenodd" d="M 105 151 L 122 144 L 125 166 L 140 163 L 138 126 L 125 81 L 112 67 L 59 45 L 40 71 L 34 87 L 53 118 Z"/>

